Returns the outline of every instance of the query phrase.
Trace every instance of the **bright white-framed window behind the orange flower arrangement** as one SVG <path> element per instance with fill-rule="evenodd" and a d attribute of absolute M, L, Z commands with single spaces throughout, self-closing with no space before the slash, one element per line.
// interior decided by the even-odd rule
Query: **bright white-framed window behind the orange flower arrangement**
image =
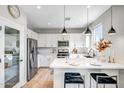
<path fill-rule="evenodd" d="M 103 38 L 103 26 L 102 24 L 98 24 L 93 28 L 92 32 L 92 40 L 91 40 L 91 48 L 95 49 L 95 43 Z"/>

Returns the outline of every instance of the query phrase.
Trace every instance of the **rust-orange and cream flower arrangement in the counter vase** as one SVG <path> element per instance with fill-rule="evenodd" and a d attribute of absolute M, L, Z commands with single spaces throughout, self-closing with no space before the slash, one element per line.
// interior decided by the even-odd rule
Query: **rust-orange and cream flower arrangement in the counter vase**
<path fill-rule="evenodd" d="M 101 39 L 99 42 L 96 43 L 96 50 L 98 50 L 99 52 L 102 52 L 106 48 L 110 47 L 111 44 L 112 44 L 111 41 L 105 40 L 105 39 Z"/>

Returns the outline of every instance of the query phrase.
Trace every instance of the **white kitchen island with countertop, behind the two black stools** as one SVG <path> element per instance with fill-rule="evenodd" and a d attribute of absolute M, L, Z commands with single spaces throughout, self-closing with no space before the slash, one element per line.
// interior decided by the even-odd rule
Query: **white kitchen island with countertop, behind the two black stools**
<path fill-rule="evenodd" d="M 85 76 L 85 87 L 90 86 L 90 73 L 103 72 L 110 76 L 118 76 L 119 86 L 119 70 L 124 69 L 123 63 L 108 63 L 100 62 L 95 58 L 86 58 L 78 56 L 77 58 L 56 58 L 50 65 L 54 69 L 54 88 L 64 87 L 64 73 L 65 72 L 79 72 Z M 96 87 L 95 81 L 92 80 L 92 87 Z M 68 85 L 69 86 L 69 85 Z M 71 86 L 69 86 L 71 87 Z M 77 87 L 73 85 L 73 87 Z M 82 86 L 83 87 L 83 86 Z M 99 85 L 99 87 L 103 87 Z M 106 87 L 115 87 L 115 85 L 106 85 Z"/>

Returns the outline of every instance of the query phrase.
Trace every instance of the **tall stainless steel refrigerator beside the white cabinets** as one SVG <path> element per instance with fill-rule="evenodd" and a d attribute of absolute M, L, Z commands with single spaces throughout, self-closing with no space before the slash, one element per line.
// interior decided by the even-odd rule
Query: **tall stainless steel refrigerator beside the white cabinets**
<path fill-rule="evenodd" d="M 27 39 L 27 80 L 37 73 L 37 40 Z"/>

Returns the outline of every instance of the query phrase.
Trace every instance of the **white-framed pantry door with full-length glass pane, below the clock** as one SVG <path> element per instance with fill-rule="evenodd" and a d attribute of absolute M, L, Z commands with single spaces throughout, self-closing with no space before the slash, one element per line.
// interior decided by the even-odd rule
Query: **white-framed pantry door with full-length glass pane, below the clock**
<path fill-rule="evenodd" d="M 4 18 L 0 20 L 0 84 L 21 87 L 24 74 L 23 27 Z"/>

